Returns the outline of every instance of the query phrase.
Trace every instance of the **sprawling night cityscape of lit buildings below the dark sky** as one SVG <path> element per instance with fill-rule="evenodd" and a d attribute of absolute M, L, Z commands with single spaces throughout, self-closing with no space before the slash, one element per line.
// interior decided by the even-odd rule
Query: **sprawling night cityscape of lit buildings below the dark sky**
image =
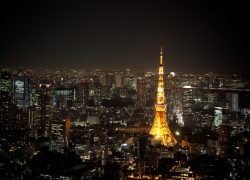
<path fill-rule="evenodd" d="M 161 56 L 157 73 L 5 68 L 0 92 L 5 179 L 249 178 L 247 75 L 164 73 Z"/>

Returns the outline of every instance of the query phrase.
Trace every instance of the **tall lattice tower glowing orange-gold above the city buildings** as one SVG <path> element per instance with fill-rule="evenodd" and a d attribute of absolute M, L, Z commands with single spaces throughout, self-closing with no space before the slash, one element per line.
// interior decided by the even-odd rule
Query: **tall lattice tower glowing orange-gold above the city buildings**
<path fill-rule="evenodd" d="M 173 146 L 177 143 L 175 137 L 171 133 L 166 115 L 166 103 L 164 95 L 164 70 L 162 62 L 162 46 L 160 53 L 160 65 L 159 65 L 159 79 L 157 87 L 157 99 L 155 103 L 155 117 L 154 123 L 150 130 L 150 134 L 155 140 L 160 141 L 164 146 Z"/>

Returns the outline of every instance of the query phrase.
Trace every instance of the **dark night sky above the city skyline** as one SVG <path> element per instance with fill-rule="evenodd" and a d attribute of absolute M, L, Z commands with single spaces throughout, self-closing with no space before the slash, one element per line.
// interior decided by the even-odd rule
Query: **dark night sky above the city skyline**
<path fill-rule="evenodd" d="M 2 67 L 249 71 L 249 6 L 220 0 L 1 2 Z"/>

